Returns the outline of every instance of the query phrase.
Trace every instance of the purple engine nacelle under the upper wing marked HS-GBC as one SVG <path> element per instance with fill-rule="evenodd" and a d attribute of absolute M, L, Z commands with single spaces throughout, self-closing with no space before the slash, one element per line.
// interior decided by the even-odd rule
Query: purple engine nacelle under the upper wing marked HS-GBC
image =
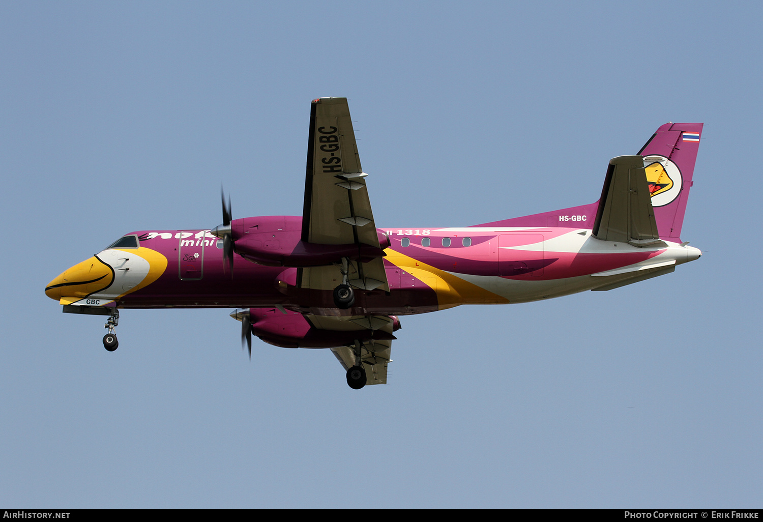
<path fill-rule="evenodd" d="M 343 257 L 368 263 L 385 256 L 389 238 L 377 231 L 381 248 L 370 245 L 318 245 L 302 240 L 302 219 L 296 216 L 245 217 L 231 221 L 233 250 L 266 266 L 328 266 Z"/>

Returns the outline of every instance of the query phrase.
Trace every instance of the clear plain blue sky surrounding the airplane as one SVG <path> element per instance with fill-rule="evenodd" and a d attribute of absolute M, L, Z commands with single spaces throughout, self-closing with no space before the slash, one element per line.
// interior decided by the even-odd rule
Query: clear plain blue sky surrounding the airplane
<path fill-rule="evenodd" d="M 756 2 L 4 2 L 0 504 L 760 507 Z M 595 201 L 706 124 L 674 274 L 403 317 L 389 384 L 224 310 L 62 314 L 132 230 L 301 214 L 310 101 L 346 96 L 382 227 Z"/>

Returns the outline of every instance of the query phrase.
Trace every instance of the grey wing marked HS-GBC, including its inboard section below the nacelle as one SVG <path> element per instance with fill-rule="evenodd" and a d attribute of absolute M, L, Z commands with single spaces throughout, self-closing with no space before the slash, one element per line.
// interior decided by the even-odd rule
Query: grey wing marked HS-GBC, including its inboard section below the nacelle
<path fill-rule="evenodd" d="M 302 240 L 321 245 L 357 244 L 380 248 L 369 192 L 360 166 L 347 98 L 313 100 L 307 173 L 304 182 Z M 351 263 L 350 284 L 389 292 L 381 258 Z M 301 269 L 301 288 L 333 289 L 336 267 Z M 341 282 L 341 275 L 339 277 Z"/>

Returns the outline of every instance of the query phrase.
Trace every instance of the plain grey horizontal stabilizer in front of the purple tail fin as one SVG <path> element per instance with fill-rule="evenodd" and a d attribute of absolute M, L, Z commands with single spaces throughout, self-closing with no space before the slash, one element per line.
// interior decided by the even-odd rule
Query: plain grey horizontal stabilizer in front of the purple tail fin
<path fill-rule="evenodd" d="M 660 240 L 642 156 L 610 159 L 594 221 L 594 237 L 634 246 L 656 246 Z"/>

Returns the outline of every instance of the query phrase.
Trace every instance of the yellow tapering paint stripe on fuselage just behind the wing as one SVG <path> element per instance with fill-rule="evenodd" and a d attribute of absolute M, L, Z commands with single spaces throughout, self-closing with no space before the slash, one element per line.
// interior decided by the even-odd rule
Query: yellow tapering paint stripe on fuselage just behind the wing
<path fill-rule="evenodd" d="M 440 310 L 459 306 L 459 304 L 506 304 L 509 302 L 501 295 L 391 248 L 385 250 L 385 253 L 387 254 L 385 259 L 390 263 L 409 272 L 436 292 Z"/>

